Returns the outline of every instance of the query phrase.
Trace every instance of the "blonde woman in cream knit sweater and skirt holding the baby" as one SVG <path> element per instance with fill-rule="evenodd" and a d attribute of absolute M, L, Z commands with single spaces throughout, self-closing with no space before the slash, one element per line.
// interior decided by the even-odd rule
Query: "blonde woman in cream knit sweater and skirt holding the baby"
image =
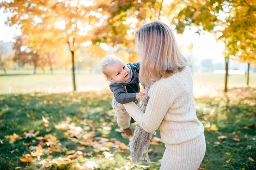
<path fill-rule="evenodd" d="M 204 158 L 204 126 L 195 113 L 193 81 L 188 61 L 169 27 L 155 21 L 135 34 L 141 57 L 142 84 L 156 81 L 148 92 L 145 113 L 133 102 L 127 112 L 147 132 L 158 127 L 166 150 L 160 170 L 197 170 Z"/>

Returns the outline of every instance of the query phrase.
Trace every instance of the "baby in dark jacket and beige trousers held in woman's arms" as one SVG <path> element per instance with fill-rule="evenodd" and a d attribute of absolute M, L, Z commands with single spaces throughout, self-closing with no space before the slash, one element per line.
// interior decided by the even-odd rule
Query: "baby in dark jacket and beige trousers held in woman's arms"
<path fill-rule="evenodd" d="M 139 104 L 138 99 L 143 98 L 145 95 L 144 92 L 140 92 L 137 75 L 137 72 L 140 72 L 140 62 L 125 65 L 120 58 L 114 55 L 107 55 L 102 58 L 101 69 L 111 82 L 109 87 L 114 95 L 112 107 L 116 109 L 117 124 L 124 130 L 126 135 L 131 135 L 130 122 L 135 121 L 126 112 L 122 104 L 131 101 Z"/>

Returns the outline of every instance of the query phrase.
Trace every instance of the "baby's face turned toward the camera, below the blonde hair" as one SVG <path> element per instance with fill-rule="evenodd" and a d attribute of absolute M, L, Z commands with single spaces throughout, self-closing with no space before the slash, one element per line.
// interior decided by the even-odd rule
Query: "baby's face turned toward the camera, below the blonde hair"
<path fill-rule="evenodd" d="M 130 69 L 122 61 L 116 61 L 107 70 L 110 81 L 122 82 L 130 78 Z"/>

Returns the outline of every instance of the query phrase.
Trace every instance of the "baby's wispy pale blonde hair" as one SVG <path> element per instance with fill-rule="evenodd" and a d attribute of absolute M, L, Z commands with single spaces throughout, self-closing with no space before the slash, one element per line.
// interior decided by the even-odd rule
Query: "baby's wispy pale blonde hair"
<path fill-rule="evenodd" d="M 112 66 L 113 63 L 115 63 L 116 61 L 122 61 L 122 60 L 116 57 L 115 55 L 106 55 L 104 58 L 102 58 L 100 62 L 100 69 L 107 79 L 108 77 L 110 77 L 110 75 L 108 75 L 108 72 L 107 72 L 107 67 Z"/>

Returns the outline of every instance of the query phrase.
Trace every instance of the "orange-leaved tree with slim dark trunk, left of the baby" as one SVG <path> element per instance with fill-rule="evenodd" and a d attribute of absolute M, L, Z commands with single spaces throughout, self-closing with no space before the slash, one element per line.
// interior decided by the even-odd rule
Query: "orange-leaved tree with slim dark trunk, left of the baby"
<path fill-rule="evenodd" d="M 43 34 L 44 40 L 67 44 L 72 58 L 73 90 L 76 91 L 75 55 L 78 53 L 81 43 L 90 40 L 92 27 L 99 20 L 99 14 L 96 11 L 98 9 L 97 2 L 90 0 L 37 0 L 36 3 L 33 3 L 30 0 L 19 0 L 3 1 L 1 7 L 4 12 L 13 14 L 8 18 L 6 24 L 9 26 L 19 25 L 23 34 L 38 33 L 40 36 L 40 30 L 47 29 L 47 32 L 44 31 L 46 34 Z M 51 44 L 46 43 L 44 46 L 50 47 Z"/>

